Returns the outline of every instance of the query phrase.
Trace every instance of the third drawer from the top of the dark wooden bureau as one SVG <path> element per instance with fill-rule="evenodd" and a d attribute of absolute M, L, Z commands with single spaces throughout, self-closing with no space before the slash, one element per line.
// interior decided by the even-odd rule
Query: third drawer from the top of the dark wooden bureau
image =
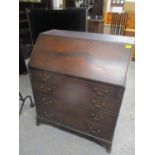
<path fill-rule="evenodd" d="M 37 109 L 39 108 L 40 111 L 44 108 L 53 114 L 62 113 L 78 118 L 82 117 L 83 120 L 98 123 L 110 129 L 114 128 L 116 125 L 117 115 L 108 111 L 99 110 L 84 100 L 82 102 L 75 101 L 73 103 L 69 103 L 54 96 L 36 93 L 34 96 L 36 107 Z"/>

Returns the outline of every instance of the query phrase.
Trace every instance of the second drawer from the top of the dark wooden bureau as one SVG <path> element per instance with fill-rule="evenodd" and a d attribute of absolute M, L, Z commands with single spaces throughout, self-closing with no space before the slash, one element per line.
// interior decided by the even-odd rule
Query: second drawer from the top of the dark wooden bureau
<path fill-rule="evenodd" d="M 73 88 L 74 86 L 74 88 Z M 107 111 L 117 114 L 120 109 L 121 101 L 106 100 L 104 96 L 97 96 L 96 92 L 90 92 L 90 88 L 86 84 L 48 84 L 34 81 L 32 83 L 34 95 L 44 96 L 42 98 L 50 98 L 65 102 L 66 105 L 77 109 L 87 109 Z"/>

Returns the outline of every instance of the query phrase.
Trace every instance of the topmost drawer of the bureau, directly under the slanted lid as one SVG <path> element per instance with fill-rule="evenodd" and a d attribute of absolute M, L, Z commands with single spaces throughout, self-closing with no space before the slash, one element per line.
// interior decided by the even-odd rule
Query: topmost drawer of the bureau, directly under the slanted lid
<path fill-rule="evenodd" d="M 123 97 L 124 89 L 118 86 L 111 86 L 99 82 L 91 82 L 83 79 L 73 78 L 70 76 L 58 75 L 43 71 L 33 71 L 33 73 L 31 74 L 32 81 L 39 81 L 40 83 L 38 87 L 41 87 L 39 89 L 44 90 L 45 93 L 46 91 L 47 93 L 50 92 L 50 89 L 49 91 L 45 90 L 44 86 L 50 86 L 52 87 L 51 89 L 61 88 L 61 91 L 65 92 L 71 90 L 72 95 L 73 92 L 79 94 L 84 93 L 91 96 L 95 95 L 96 97 L 101 97 L 104 100 L 115 101 L 118 103 L 121 102 Z M 42 84 L 43 86 L 41 86 L 40 84 Z"/>

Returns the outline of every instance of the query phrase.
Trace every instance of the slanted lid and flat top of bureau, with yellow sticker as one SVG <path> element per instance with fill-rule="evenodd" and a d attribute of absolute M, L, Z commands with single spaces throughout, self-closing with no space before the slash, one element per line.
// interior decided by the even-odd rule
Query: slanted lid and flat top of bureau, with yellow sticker
<path fill-rule="evenodd" d="M 125 86 L 134 38 L 52 30 L 41 33 L 29 67 Z"/>

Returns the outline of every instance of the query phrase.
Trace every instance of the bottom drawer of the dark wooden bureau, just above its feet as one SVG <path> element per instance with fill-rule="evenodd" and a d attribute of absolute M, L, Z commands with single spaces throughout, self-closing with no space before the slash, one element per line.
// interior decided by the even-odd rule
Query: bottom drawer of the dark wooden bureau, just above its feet
<path fill-rule="evenodd" d="M 114 129 L 109 129 L 99 123 L 88 122 L 76 115 L 71 115 L 70 113 L 52 113 L 50 109 L 47 108 L 38 109 L 37 115 L 42 119 L 59 123 L 66 128 L 76 129 L 88 135 L 112 141 Z"/>

